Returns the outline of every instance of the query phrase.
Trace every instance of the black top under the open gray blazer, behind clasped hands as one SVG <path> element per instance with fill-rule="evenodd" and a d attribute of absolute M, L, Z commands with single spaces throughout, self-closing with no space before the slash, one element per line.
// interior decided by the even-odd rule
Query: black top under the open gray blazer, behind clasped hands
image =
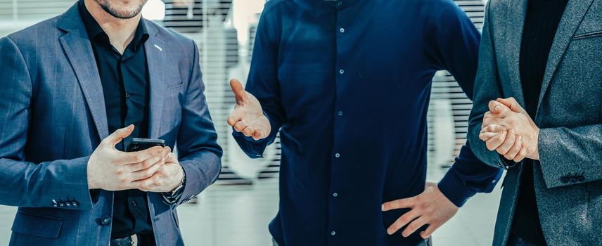
<path fill-rule="evenodd" d="M 520 79 L 525 96 L 525 110 L 534 119 L 542 90 L 546 63 L 556 29 L 568 0 L 530 0 L 520 47 Z M 533 161 L 523 162 L 518 202 L 511 235 L 535 245 L 546 245 L 539 210 L 535 200 Z"/>

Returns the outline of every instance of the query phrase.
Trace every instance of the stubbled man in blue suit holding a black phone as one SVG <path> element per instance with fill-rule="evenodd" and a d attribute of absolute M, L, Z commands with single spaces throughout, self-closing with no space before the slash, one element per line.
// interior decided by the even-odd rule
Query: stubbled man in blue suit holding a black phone
<path fill-rule="evenodd" d="M 0 39 L 11 245 L 183 245 L 176 208 L 217 179 L 222 149 L 196 44 L 145 3 L 82 0 Z M 126 153 L 131 138 L 166 147 Z"/>

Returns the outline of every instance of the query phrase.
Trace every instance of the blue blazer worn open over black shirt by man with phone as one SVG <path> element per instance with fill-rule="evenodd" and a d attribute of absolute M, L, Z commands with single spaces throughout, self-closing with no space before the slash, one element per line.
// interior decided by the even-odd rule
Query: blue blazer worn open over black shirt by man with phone
<path fill-rule="evenodd" d="M 149 135 L 177 143 L 186 172 L 176 205 L 148 193 L 158 245 L 182 245 L 176 207 L 217 179 L 222 149 L 196 44 L 145 21 Z M 0 39 L 0 204 L 18 206 L 11 245 L 108 245 L 113 192 L 91 197 L 87 162 L 108 136 L 103 88 L 73 6 Z M 56 204 L 55 204 L 56 202 Z M 105 218 L 104 220 L 101 218 Z"/>

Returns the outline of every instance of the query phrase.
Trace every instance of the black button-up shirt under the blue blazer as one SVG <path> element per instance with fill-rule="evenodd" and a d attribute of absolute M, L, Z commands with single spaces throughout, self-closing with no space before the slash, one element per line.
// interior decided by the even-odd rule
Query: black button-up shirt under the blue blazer
<path fill-rule="evenodd" d="M 148 39 L 146 25 L 140 21 L 134 39 L 121 54 L 110 44 L 108 35 L 89 13 L 84 1 L 79 1 L 79 13 L 101 77 L 108 129 L 113 132 L 134 124 L 132 134 L 116 146 L 118 150 L 124 150 L 131 138 L 148 136 L 148 66 L 143 46 Z M 152 234 L 146 193 L 141 190 L 116 191 L 112 221 L 111 238 Z"/>

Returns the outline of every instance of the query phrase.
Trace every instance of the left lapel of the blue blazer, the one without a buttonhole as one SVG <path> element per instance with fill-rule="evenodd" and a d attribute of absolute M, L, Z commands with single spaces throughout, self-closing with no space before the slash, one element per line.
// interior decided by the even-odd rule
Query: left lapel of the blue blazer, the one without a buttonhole
<path fill-rule="evenodd" d="M 60 45 L 63 46 L 79 86 L 82 87 L 98 136 L 103 139 L 109 134 L 103 86 L 94 60 L 94 51 L 82 18 L 79 16 L 77 4 L 60 17 L 57 27 L 67 32 L 59 37 Z"/>

